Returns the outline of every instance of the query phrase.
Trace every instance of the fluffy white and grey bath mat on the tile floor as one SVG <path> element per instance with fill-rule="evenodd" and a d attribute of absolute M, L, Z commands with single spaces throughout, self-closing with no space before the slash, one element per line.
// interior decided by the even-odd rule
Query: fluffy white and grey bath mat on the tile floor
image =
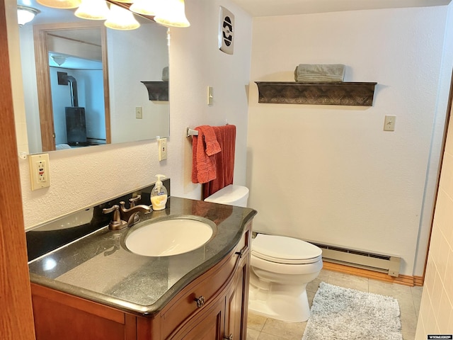
<path fill-rule="evenodd" d="M 398 301 L 321 282 L 302 340 L 402 340 Z"/>

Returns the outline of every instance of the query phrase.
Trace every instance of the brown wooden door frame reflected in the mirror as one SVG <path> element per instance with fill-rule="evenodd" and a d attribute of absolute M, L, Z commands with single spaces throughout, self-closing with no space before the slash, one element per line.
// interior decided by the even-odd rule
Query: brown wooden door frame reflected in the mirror
<path fill-rule="evenodd" d="M 50 86 L 49 50 L 47 35 L 56 30 L 83 30 L 99 28 L 101 30 L 101 50 L 103 64 L 104 106 L 105 106 L 105 142 L 110 138 L 110 94 L 108 87 L 107 31 L 105 26 L 91 21 L 74 23 L 49 23 L 36 25 L 33 28 L 35 40 L 36 80 L 38 83 L 38 106 L 40 112 L 40 129 L 42 152 L 53 151 L 55 147 L 55 128 L 52 108 L 52 91 Z"/>

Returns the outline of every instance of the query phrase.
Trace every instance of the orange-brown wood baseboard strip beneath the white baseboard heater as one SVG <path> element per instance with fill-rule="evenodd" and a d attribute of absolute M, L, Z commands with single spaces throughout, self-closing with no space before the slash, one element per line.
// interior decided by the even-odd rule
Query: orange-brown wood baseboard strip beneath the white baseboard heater
<path fill-rule="evenodd" d="M 394 278 L 386 273 L 379 273 L 377 271 L 370 271 L 369 269 L 355 268 L 346 266 L 344 264 L 332 263 L 326 260 L 323 261 L 323 269 L 328 271 L 338 271 L 339 273 L 352 274 L 355 276 L 361 276 L 362 278 L 372 278 L 374 280 L 384 281 L 388 283 L 398 283 L 400 285 L 408 285 L 413 287 L 414 285 L 423 286 L 423 277 L 421 276 L 407 276 L 399 275 Z"/>

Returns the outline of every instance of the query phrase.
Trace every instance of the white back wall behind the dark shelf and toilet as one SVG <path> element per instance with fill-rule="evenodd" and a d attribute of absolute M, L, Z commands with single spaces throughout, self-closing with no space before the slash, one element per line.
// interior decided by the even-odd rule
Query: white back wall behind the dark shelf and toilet
<path fill-rule="evenodd" d="M 423 274 L 414 263 L 430 220 L 420 215 L 432 206 L 429 195 L 423 205 L 425 183 L 432 194 L 437 169 L 426 174 L 442 137 L 433 122 L 445 117 L 442 72 L 449 79 L 452 69 L 451 60 L 441 69 L 446 20 L 447 6 L 253 20 L 247 185 L 255 229 L 396 254 L 401 274 Z M 294 81 L 301 63 L 341 63 L 345 81 L 377 81 L 374 105 L 258 103 L 253 81 Z M 383 131 L 384 115 L 396 115 L 395 132 Z"/>

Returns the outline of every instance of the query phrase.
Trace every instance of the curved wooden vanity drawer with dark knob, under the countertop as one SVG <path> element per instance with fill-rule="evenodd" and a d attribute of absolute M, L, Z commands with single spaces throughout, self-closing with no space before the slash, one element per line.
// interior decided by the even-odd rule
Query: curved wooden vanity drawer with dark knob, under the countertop
<path fill-rule="evenodd" d="M 239 266 L 241 249 L 242 254 L 246 254 L 246 250 L 243 249 L 248 249 L 248 236 L 247 230 L 239 244 L 225 259 L 190 283 L 167 305 L 161 314 L 161 339 L 171 339 L 171 334 L 175 334 L 186 321 L 204 310 L 222 293 Z"/>

